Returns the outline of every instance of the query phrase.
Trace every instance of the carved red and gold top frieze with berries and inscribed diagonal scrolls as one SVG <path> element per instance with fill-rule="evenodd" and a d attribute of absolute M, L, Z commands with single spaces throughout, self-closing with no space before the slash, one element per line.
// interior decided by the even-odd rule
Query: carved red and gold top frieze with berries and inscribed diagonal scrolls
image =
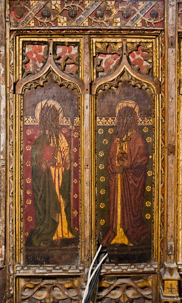
<path fill-rule="evenodd" d="M 160 1 L 10 1 L 11 24 L 22 27 L 163 27 Z M 40 6 L 40 8 L 39 8 Z"/>

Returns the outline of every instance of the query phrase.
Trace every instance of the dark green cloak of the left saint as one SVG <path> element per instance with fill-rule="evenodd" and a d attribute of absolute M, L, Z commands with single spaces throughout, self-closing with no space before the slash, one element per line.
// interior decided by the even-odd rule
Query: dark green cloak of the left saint
<path fill-rule="evenodd" d="M 61 206 L 50 168 L 42 169 L 43 135 L 40 135 L 31 150 L 31 176 L 35 205 L 35 246 L 48 246 L 58 227 Z"/>

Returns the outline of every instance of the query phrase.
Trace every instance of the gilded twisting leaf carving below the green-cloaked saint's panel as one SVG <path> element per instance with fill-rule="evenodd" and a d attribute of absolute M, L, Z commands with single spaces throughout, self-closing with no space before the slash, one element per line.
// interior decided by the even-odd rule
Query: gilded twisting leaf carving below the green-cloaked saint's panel
<path fill-rule="evenodd" d="M 27 301 L 27 299 L 29 301 L 31 298 L 35 299 L 36 301 L 38 300 L 41 303 L 58 303 L 65 299 L 69 299 L 70 302 L 71 300 L 78 301 L 78 279 L 72 279 L 73 281 L 68 280 L 62 283 L 59 280 L 61 279 L 22 279 L 22 301 Z"/>

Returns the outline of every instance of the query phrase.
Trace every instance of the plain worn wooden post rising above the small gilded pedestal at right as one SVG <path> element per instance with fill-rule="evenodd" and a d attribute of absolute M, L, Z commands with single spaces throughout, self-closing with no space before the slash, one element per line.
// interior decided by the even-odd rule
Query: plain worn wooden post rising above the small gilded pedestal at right
<path fill-rule="evenodd" d="M 175 214 L 176 214 L 176 2 L 168 2 L 168 57 L 167 57 L 167 102 L 168 102 L 168 157 L 167 157 L 167 263 L 174 263 Z M 167 46 L 166 45 L 166 46 Z"/>

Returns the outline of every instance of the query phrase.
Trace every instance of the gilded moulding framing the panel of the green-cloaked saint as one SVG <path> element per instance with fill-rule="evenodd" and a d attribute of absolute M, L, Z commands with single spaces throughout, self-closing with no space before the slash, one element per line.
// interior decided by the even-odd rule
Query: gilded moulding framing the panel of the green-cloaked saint
<path fill-rule="evenodd" d="M 33 38 L 32 40 L 31 40 L 31 38 L 29 38 L 29 39 L 25 38 L 25 41 L 29 41 L 29 42 L 30 41 L 35 41 L 35 39 L 36 38 Z M 63 38 L 63 39 L 58 39 L 58 42 L 60 42 L 60 41 L 63 41 L 63 42 L 67 41 L 68 42 L 68 40 L 69 40 L 68 38 Z M 70 40 L 73 41 L 73 42 L 75 40 L 75 41 L 79 41 L 80 43 L 83 43 L 81 41 L 81 39 L 79 39 L 79 38 L 78 39 L 77 38 L 76 39 L 72 38 Z M 16 48 L 15 57 L 17 58 L 18 62 L 20 62 L 20 64 L 21 64 L 21 54 L 22 54 L 21 49 L 22 49 L 22 42 L 23 41 L 24 41 L 24 38 L 19 38 L 18 36 L 16 37 L 17 48 Z M 42 39 L 41 41 L 47 41 L 47 40 Z M 55 41 L 57 41 L 57 40 L 55 40 Z M 20 49 L 19 49 L 19 45 L 20 45 Z M 50 51 L 51 50 L 49 48 L 49 52 Z M 23 206 L 22 206 L 21 203 L 19 203 L 19 199 L 20 199 L 20 201 L 22 201 L 22 199 L 21 199 L 21 197 L 22 197 L 22 189 L 21 189 L 22 188 L 22 181 L 20 181 L 20 180 L 22 180 L 22 174 L 20 173 L 20 171 L 22 171 L 22 169 L 20 169 L 20 167 L 22 166 L 22 138 L 21 138 L 21 134 L 22 134 L 22 127 L 23 127 L 23 125 L 22 125 L 23 120 L 20 119 L 20 117 L 22 115 L 21 113 L 22 113 L 23 93 L 24 93 L 25 89 L 30 88 L 30 85 L 34 85 L 34 82 L 35 82 L 34 86 L 36 87 L 37 85 L 43 85 L 43 83 L 47 81 L 46 76 L 44 77 L 43 73 L 45 72 L 45 75 L 46 75 L 50 70 L 53 71 L 53 68 L 51 67 L 51 65 L 49 65 L 49 61 L 47 61 L 47 65 L 48 65 L 47 67 L 45 65 L 45 69 L 44 70 L 41 70 L 37 74 L 31 75 L 31 76 L 29 76 L 27 78 L 22 78 L 23 84 L 21 82 L 17 82 L 18 83 L 18 85 L 17 85 L 18 88 L 17 88 L 17 91 L 16 91 L 17 94 L 14 95 L 14 100 L 16 100 L 15 101 L 15 103 L 16 103 L 16 109 L 15 109 L 16 110 L 16 116 L 19 117 L 19 119 L 16 119 L 16 122 L 14 122 L 14 125 L 13 125 L 14 134 L 16 134 L 15 137 L 14 137 L 14 140 L 15 140 L 14 144 L 16 144 L 16 148 L 15 148 L 16 149 L 16 153 L 14 153 L 14 155 L 13 155 L 13 157 L 14 157 L 14 163 L 16 163 L 16 168 L 15 168 L 16 174 L 15 174 L 15 178 L 14 178 L 15 182 L 16 182 L 16 185 L 15 185 L 15 187 L 16 187 L 16 190 L 15 190 L 15 192 L 16 192 L 16 205 L 14 205 L 14 214 L 16 214 L 15 218 L 18 218 L 18 221 L 19 221 L 18 227 L 15 230 L 15 233 L 16 233 L 16 245 L 14 244 L 15 247 L 16 247 L 16 261 L 15 261 L 15 264 L 23 264 L 23 246 L 22 246 L 22 243 L 23 243 L 23 239 L 22 239 L 22 230 L 23 230 L 23 225 L 22 225 L 22 222 L 23 222 L 22 209 L 23 208 L 22 207 Z M 80 69 L 81 69 L 81 77 L 83 78 L 83 72 L 82 72 L 83 68 L 81 67 Z M 15 71 L 15 79 L 16 80 L 18 78 L 21 78 L 21 75 L 20 75 L 21 72 L 20 72 L 20 70 L 21 69 L 19 67 L 17 67 L 17 69 Z M 61 74 L 61 78 L 64 77 L 64 80 L 62 81 L 63 82 L 63 84 L 62 84 L 61 78 L 60 78 L 60 81 L 59 81 L 58 84 L 59 85 L 66 85 L 66 86 L 69 85 L 69 83 L 70 83 L 69 82 L 70 81 L 70 76 L 63 74 L 61 71 L 59 71 L 59 73 Z M 41 75 L 43 75 L 43 82 L 40 82 L 40 84 L 39 84 L 39 83 L 36 82 L 36 79 L 39 78 Z M 59 77 L 58 76 L 58 71 L 57 71 L 57 77 Z M 33 78 L 33 81 L 32 81 L 32 78 Z M 71 87 L 73 89 L 75 89 L 75 88 L 78 87 L 77 89 L 80 90 L 79 86 L 77 85 L 78 81 L 76 79 L 75 80 L 71 79 L 71 81 L 72 81 L 70 83 Z M 82 107 L 83 107 L 83 84 L 82 83 L 83 83 L 83 81 L 81 79 L 79 81 L 81 81 L 81 92 L 82 92 L 82 94 L 80 94 L 80 102 L 81 102 L 80 115 L 81 115 L 81 120 L 79 122 L 79 121 L 77 121 L 78 119 L 76 119 L 75 123 L 77 125 L 79 123 L 80 129 L 82 130 L 83 129 L 83 118 L 82 118 L 82 113 L 83 113 L 83 109 L 82 109 Z M 30 83 L 30 85 L 27 85 L 28 82 Z M 56 82 L 57 82 L 57 80 L 56 80 Z M 76 82 L 76 83 L 74 84 L 74 82 Z M 20 85 L 19 85 L 19 83 L 20 83 Z M 83 131 L 82 131 L 82 133 L 83 133 Z M 82 197 L 81 201 L 84 201 L 84 198 L 83 198 L 83 196 L 84 196 L 84 192 L 83 192 L 84 185 L 83 184 L 84 183 L 82 181 L 83 178 L 84 178 L 84 173 L 82 172 L 82 167 L 84 167 L 83 166 L 83 161 L 84 161 L 84 157 L 83 157 L 83 155 L 84 155 L 84 144 L 83 144 L 83 142 L 84 142 L 83 137 L 81 137 L 81 150 L 80 150 L 80 152 L 81 152 L 81 154 L 80 154 L 80 161 L 82 162 L 82 164 L 80 165 L 80 167 L 81 167 L 81 197 Z M 19 155 L 21 155 L 20 157 L 18 155 L 18 151 L 19 151 Z M 83 208 L 84 208 L 84 205 L 81 205 L 81 209 L 83 209 Z M 83 215 L 83 213 L 81 212 L 81 216 L 82 215 Z M 81 220 L 81 221 L 83 222 L 83 220 Z M 19 226 L 21 226 L 21 227 L 19 228 Z M 81 226 L 82 226 L 81 227 L 82 228 L 81 229 L 81 239 L 82 239 L 82 237 L 84 237 L 84 230 L 83 230 L 83 225 L 81 225 Z M 81 241 L 81 243 L 83 242 L 83 240 L 80 240 L 80 241 Z M 81 260 L 83 260 L 83 255 L 82 254 L 83 254 L 83 248 L 82 248 L 82 245 L 81 245 L 81 251 L 80 251 L 80 263 L 81 264 L 82 264 Z M 20 266 L 20 268 L 21 268 L 21 266 Z M 65 267 L 65 268 L 63 267 L 64 269 L 60 268 L 60 270 L 58 270 L 58 267 L 56 267 L 56 266 L 54 268 L 55 268 L 56 272 L 59 272 L 59 274 L 62 273 L 62 275 L 65 275 L 66 272 L 69 272 L 68 267 Z M 78 268 L 79 268 L 79 265 L 78 265 Z M 81 268 L 82 268 L 82 266 L 78 270 L 76 270 L 75 274 L 79 274 L 80 275 L 80 273 L 82 271 Z M 24 271 L 21 271 L 21 272 L 23 274 Z M 16 268 L 15 268 L 15 273 L 16 273 Z M 70 267 L 70 274 L 71 273 L 72 273 L 72 267 Z"/>

